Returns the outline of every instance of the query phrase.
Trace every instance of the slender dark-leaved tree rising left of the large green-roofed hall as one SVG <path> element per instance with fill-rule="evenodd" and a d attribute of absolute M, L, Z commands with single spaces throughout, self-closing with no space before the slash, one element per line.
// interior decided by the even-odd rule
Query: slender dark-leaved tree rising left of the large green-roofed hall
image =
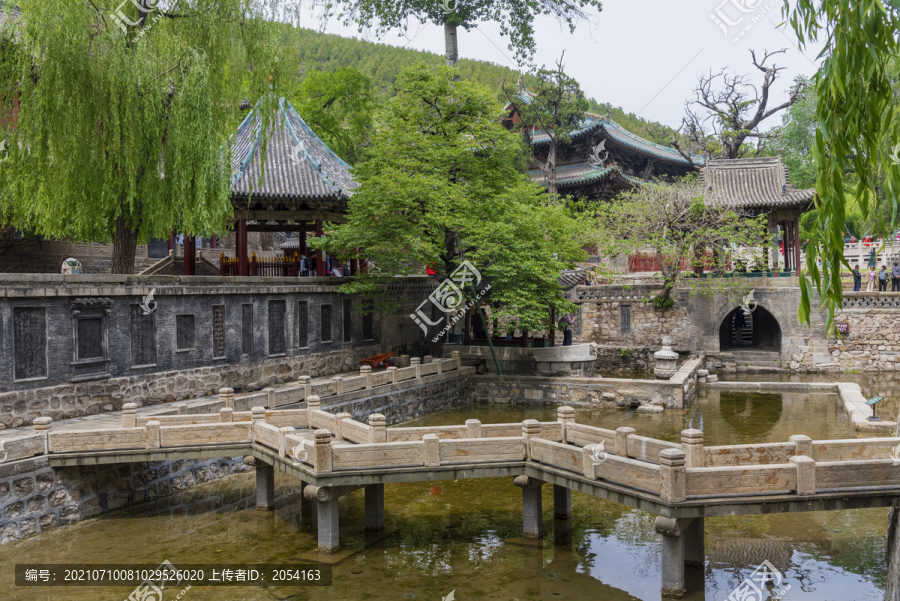
<path fill-rule="evenodd" d="M 524 132 L 529 147 L 533 131 L 543 131 L 550 137 L 547 155 L 541 161 L 534 157 L 547 178 L 547 190 L 551 198 L 557 199 L 556 151 L 560 144 L 572 140 L 572 132 L 584 122 L 588 102 L 575 78 L 566 75 L 563 57 L 556 63 L 556 69 L 540 69 L 535 74 L 536 84 L 528 91 L 508 90 L 506 97 L 519 113 L 522 122 L 519 129 Z"/>

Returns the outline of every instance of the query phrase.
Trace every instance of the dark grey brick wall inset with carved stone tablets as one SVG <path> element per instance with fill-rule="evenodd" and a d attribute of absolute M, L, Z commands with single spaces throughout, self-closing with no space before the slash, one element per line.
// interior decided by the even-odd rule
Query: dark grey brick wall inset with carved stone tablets
<path fill-rule="evenodd" d="M 392 312 L 341 280 L 0 274 L 0 430 L 418 353 L 403 310 L 427 298 L 424 278 L 398 278 Z"/>

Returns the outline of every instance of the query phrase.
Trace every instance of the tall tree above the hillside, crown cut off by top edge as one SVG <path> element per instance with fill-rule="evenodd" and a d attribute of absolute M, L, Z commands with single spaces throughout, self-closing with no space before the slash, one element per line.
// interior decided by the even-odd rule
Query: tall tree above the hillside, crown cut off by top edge
<path fill-rule="evenodd" d="M 586 9 L 602 9 L 600 0 L 338 0 L 343 5 L 341 16 L 355 21 L 359 30 L 374 28 L 383 36 L 391 29 L 405 28 L 410 17 L 444 26 L 447 65 L 455 66 L 459 57 L 457 30 L 471 30 L 479 22 L 500 24 L 500 32 L 509 38 L 509 49 L 517 58 L 534 55 L 534 19 L 551 15 L 575 31 L 578 21 L 586 21 Z"/>

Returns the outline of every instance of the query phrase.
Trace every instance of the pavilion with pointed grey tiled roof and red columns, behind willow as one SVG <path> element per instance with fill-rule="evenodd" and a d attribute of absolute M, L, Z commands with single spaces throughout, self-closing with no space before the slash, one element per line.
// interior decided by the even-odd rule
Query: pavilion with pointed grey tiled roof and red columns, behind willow
<path fill-rule="evenodd" d="M 236 275 L 251 275 L 248 232 L 297 232 L 297 251 L 308 255 L 307 232 L 322 236 L 325 222 L 345 221 L 347 201 L 357 186 L 350 165 L 328 148 L 287 100 L 280 98 L 275 106 L 267 100 L 260 100 L 247 114 L 232 142 Z M 263 110 L 276 113 L 266 144 Z M 323 255 L 321 250 L 315 252 L 319 276 L 327 275 Z M 351 261 L 351 273 L 357 269 L 357 261 Z"/>

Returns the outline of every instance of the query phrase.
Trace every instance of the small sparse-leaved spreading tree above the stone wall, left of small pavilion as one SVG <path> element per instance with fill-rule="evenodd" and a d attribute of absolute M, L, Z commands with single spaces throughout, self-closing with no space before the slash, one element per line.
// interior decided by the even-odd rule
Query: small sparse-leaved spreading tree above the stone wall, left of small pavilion
<path fill-rule="evenodd" d="M 667 298 L 681 277 L 683 263 L 694 267 L 711 262 L 723 272 L 729 262 L 747 260 L 731 249 L 766 244 L 764 216 L 753 217 L 706 204 L 703 188 L 688 178 L 675 184 L 644 184 L 637 190 L 592 209 L 596 227 L 591 243 L 606 256 L 652 252 L 663 278 L 661 298 Z M 704 258 L 710 253 L 711 256 Z M 705 292 L 739 287 L 741 278 L 715 278 L 694 286 Z"/>

